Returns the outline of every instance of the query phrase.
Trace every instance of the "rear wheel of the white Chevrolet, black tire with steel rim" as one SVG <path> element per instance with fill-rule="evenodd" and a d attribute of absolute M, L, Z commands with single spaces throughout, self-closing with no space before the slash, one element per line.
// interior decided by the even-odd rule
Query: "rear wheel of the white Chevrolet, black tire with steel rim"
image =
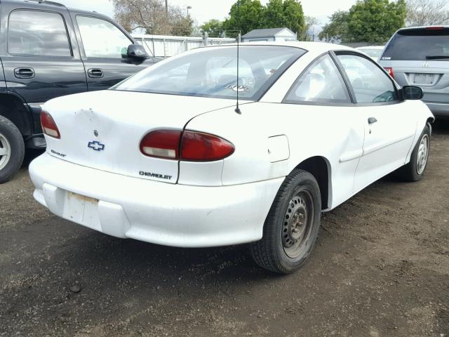
<path fill-rule="evenodd" d="M 295 169 L 284 180 L 273 201 L 264 223 L 262 239 L 250 245 L 257 265 L 280 274 L 290 274 L 299 269 L 315 245 L 320 217 L 321 193 L 316 179 L 307 171 Z M 295 219 L 298 218 L 304 220 L 302 225 L 296 222 L 295 227 Z M 299 234 L 293 231 L 298 227 L 303 236 L 301 234 L 296 239 L 295 235 Z M 298 247 L 296 250 L 295 246 Z"/>

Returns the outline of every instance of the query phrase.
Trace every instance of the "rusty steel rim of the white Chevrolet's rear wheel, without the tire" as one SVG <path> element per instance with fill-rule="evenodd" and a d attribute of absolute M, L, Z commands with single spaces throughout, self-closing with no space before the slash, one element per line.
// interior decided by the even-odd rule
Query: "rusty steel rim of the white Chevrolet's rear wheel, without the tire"
<path fill-rule="evenodd" d="M 297 192 L 288 203 L 283 217 L 282 245 L 289 258 L 303 255 L 311 236 L 314 203 L 307 190 Z"/>

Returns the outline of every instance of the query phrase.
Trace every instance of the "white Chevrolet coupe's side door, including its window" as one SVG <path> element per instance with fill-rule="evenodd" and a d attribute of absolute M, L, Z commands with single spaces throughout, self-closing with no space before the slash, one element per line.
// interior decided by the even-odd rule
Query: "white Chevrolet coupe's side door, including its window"
<path fill-rule="evenodd" d="M 400 100 L 389 75 L 358 53 L 337 53 L 354 103 L 363 115 L 363 155 L 354 177 L 354 192 L 406 163 L 416 131 L 410 103 Z"/>

